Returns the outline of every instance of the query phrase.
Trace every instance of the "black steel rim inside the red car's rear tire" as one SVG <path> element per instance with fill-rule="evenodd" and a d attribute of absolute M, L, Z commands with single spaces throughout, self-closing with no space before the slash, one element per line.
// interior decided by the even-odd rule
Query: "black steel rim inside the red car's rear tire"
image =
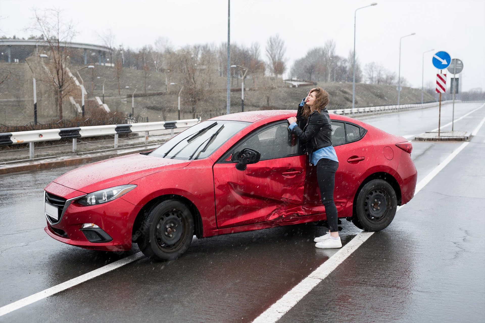
<path fill-rule="evenodd" d="M 390 213 L 390 195 L 384 187 L 374 187 L 367 192 L 362 205 L 364 214 L 374 224 L 386 221 Z"/>

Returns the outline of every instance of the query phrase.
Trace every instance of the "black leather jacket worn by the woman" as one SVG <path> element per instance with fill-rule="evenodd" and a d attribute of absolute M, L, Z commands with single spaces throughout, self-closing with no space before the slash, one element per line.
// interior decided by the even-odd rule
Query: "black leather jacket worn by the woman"
<path fill-rule="evenodd" d="M 332 125 L 326 108 L 322 109 L 320 113 L 313 111 L 308 119 L 305 119 L 303 106 L 298 105 L 296 124 L 297 126 L 293 127 L 291 132 L 300 139 L 300 143 L 305 144 L 308 154 L 332 145 Z"/>

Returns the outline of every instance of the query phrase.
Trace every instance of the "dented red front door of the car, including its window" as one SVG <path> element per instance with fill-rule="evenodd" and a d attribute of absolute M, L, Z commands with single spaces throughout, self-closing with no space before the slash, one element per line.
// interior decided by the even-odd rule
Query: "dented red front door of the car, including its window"
<path fill-rule="evenodd" d="M 236 169 L 237 154 L 256 150 L 259 161 Z M 306 155 L 288 122 L 264 126 L 231 148 L 213 166 L 217 227 L 242 226 L 301 215 Z"/>

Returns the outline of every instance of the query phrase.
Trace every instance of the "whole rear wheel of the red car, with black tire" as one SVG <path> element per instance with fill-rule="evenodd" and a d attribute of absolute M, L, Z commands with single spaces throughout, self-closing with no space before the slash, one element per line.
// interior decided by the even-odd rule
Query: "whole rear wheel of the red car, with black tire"
<path fill-rule="evenodd" d="M 371 180 L 358 192 L 352 222 L 364 231 L 381 231 L 392 222 L 397 210 L 396 192 L 380 179 Z"/>

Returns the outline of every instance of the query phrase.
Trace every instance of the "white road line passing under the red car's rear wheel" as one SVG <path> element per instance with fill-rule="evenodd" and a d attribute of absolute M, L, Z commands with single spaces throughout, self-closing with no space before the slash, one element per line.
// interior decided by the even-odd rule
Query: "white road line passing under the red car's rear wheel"
<path fill-rule="evenodd" d="M 483 122 L 480 126 L 483 125 Z M 478 132 L 477 127 L 475 129 Z M 416 194 L 428 184 L 446 165 L 448 165 L 453 158 L 459 154 L 469 142 L 462 143 L 456 148 L 452 154 L 450 154 L 441 164 L 436 166 L 426 177 L 424 177 L 414 191 Z M 405 204 L 404 204 L 405 205 Z M 399 211 L 404 205 L 398 206 Z M 347 259 L 359 246 L 361 246 L 374 232 L 362 231 L 356 235 L 349 243 L 343 246 L 337 253 L 330 257 L 327 261 L 323 262 L 315 271 L 303 279 L 298 285 L 293 287 L 290 292 L 287 292 L 283 297 L 275 302 L 271 307 L 262 312 L 253 323 L 273 323 L 278 321 L 286 312 L 288 312 L 293 306 L 295 306 L 308 292 L 310 292 L 315 286 L 318 285 L 325 277 L 327 277 L 335 268 L 339 266 L 342 261 Z"/>

